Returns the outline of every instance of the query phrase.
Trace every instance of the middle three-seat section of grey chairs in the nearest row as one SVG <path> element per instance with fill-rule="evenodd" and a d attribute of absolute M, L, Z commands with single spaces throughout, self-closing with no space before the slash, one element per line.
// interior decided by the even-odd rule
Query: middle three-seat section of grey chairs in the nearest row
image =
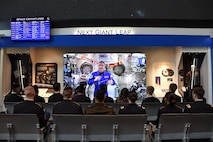
<path fill-rule="evenodd" d="M 147 115 L 54 114 L 53 140 L 145 141 L 146 119 Z"/>

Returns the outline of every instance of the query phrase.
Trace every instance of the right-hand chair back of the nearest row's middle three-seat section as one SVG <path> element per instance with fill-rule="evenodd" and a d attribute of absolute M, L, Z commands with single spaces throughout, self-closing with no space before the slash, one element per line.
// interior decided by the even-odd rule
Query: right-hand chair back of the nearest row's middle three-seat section
<path fill-rule="evenodd" d="M 146 114 L 117 115 L 116 124 L 118 141 L 145 141 Z"/>

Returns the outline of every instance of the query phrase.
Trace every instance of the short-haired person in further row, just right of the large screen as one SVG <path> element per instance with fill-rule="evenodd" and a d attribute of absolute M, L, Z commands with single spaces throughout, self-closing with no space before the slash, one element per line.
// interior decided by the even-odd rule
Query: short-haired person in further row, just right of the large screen
<path fill-rule="evenodd" d="M 160 100 L 156 97 L 153 96 L 154 93 L 154 87 L 153 86 L 148 86 L 146 89 L 146 98 L 143 100 L 142 105 L 144 102 L 159 102 Z"/>

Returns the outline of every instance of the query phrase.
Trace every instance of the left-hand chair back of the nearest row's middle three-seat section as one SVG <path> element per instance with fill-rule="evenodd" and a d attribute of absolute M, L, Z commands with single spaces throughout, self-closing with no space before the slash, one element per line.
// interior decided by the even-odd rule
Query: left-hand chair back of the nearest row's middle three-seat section
<path fill-rule="evenodd" d="M 83 141 L 83 115 L 53 114 L 52 140 Z"/>

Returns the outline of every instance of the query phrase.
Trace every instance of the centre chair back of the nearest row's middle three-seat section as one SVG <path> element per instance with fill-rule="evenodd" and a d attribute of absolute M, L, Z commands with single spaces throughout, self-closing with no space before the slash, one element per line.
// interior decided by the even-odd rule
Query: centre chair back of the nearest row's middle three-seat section
<path fill-rule="evenodd" d="M 86 141 L 114 141 L 114 115 L 85 115 Z"/>

